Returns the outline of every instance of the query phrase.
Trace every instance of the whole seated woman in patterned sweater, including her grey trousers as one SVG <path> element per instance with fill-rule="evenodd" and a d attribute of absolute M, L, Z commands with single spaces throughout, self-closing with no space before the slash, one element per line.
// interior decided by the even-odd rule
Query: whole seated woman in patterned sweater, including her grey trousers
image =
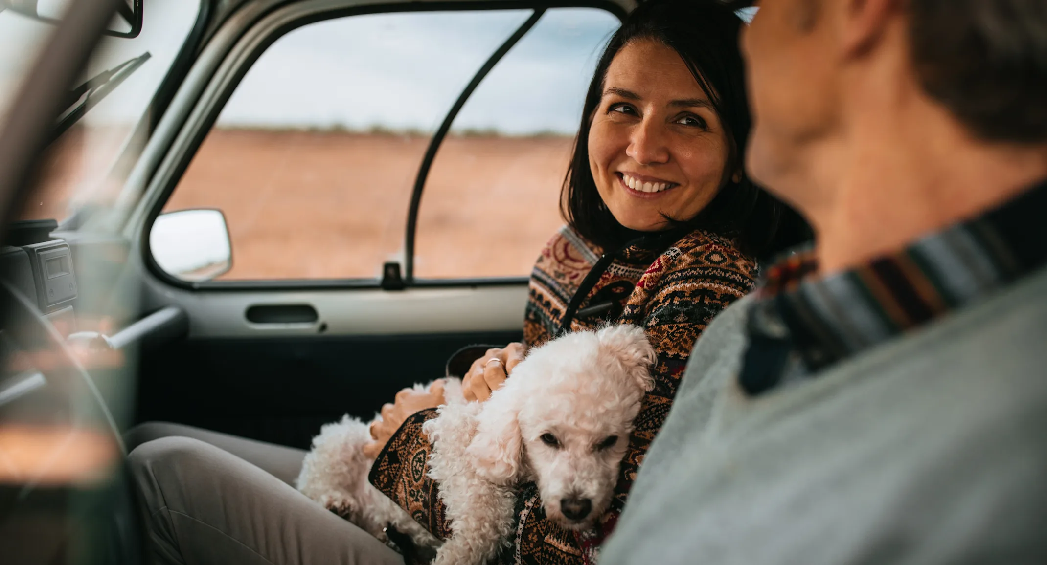
<path fill-rule="evenodd" d="M 541 504 L 534 485 L 526 485 L 504 562 L 592 561 L 668 413 L 694 341 L 753 288 L 755 257 L 794 243 L 776 236 L 780 205 L 741 168 L 750 118 L 740 25 L 713 2 L 652 0 L 630 15 L 598 64 L 564 185 L 569 226 L 535 265 L 525 343 L 475 359 L 465 388 L 470 399 L 485 401 L 528 346 L 607 322 L 646 330 L 659 353 L 656 385 L 644 399 L 616 500 L 599 526 L 560 528 L 532 512 Z M 396 404 L 383 407 L 367 450 L 378 455 L 372 481 L 446 537 L 439 485 L 424 473 L 431 446 L 421 433 L 442 401 L 439 385 L 400 392 Z M 200 430 L 153 427 L 138 434 L 137 442 L 163 434 L 206 442 L 166 437 L 131 455 L 153 546 L 165 561 L 399 560 L 285 484 L 300 466 L 300 452 Z"/>

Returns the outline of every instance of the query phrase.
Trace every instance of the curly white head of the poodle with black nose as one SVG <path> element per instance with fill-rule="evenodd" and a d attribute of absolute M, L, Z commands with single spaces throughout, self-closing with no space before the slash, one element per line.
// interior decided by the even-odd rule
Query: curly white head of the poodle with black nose
<path fill-rule="evenodd" d="M 654 360 L 632 325 L 532 349 L 477 416 L 469 453 L 478 472 L 499 484 L 533 477 L 549 517 L 588 526 L 610 503 Z"/>

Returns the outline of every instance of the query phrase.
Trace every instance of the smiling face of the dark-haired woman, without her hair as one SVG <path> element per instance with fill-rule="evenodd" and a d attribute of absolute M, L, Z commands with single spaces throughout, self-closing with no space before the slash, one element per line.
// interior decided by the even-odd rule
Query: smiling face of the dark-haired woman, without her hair
<path fill-rule="evenodd" d="M 588 135 L 589 168 L 600 198 L 623 226 L 669 227 L 686 221 L 719 191 L 727 135 L 684 60 L 641 40 L 610 63 Z"/>

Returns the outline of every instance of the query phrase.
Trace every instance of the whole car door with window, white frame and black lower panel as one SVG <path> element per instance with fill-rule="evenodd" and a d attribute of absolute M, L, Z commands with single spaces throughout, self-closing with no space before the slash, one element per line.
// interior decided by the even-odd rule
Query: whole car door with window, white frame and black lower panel
<path fill-rule="evenodd" d="M 246 4 L 124 188 L 137 421 L 308 446 L 520 339 L 581 98 L 628 3 Z M 152 170 L 151 170 L 152 167 Z"/>

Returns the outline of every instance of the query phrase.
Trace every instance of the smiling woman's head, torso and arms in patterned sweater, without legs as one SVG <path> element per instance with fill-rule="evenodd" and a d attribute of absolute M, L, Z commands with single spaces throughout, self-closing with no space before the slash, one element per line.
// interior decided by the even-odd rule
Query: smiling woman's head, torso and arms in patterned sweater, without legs
<path fill-rule="evenodd" d="M 779 205 L 742 172 L 750 118 L 739 27 L 734 14 L 711 2 L 655 0 L 637 8 L 597 66 L 564 186 L 569 226 L 535 265 L 525 343 L 488 352 L 464 384 L 483 401 L 527 347 L 607 322 L 646 330 L 659 353 L 656 384 L 644 399 L 615 503 L 599 527 L 578 534 L 554 524 L 533 511 L 541 507 L 537 489 L 526 485 L 505 562 L 594 560 L 668 413 L 694 341 L 752 289 L 755 257 L 785 243 L 775 239 Z M 407 469 L 431 451 L 420 428 L 436 411 L 404 422 L 440 400 L 439 390 L 404 392 L 386 406 L 370 448 L 387 446 L 371 477 L 422 525 L 447 537 L 439 485 Z"/>

